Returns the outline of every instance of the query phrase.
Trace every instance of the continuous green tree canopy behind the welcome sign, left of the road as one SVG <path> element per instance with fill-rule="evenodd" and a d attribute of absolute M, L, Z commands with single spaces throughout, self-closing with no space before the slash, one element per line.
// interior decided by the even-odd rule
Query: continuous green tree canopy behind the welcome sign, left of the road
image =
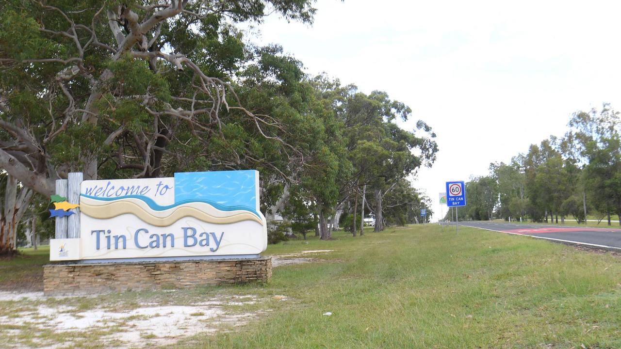
<path fill-rule="evenodd" d="M 311 24 L 313 2 L 2 2 L 0 174 L 14 217 L 2 248 L 14 248 L 34 193 L 49 197 L 71 171 L 253 168 L 262 211 L 298 230 L 320 222 L 322 238 L 357 210 L 373 211 L 378 231 L 414 221 L 424 198 L 406 179 L 435 160 L 431 127 L 402 129 L 412 111 L 388 93 L 307 76 L 239 29 L 274 12 Z"/>

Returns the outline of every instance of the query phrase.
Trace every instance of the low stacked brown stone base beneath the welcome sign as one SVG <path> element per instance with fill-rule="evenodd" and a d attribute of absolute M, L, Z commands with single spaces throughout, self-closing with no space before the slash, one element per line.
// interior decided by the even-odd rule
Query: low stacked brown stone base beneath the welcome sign
<path fill-rule="evenodd" d="M 271 257 L 235 260 L 48 264 L 45 295 L 118 292 L 161 287 L 247 283 L 271 278 Z"/>

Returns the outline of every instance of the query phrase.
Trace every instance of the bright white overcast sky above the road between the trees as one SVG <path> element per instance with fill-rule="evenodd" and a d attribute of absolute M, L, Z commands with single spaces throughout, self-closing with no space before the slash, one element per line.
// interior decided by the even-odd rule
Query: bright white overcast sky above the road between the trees
<path fill-rule="evenodd" d="M 621 108 L 621 2 L 319 0 L 312 26 L 271 16 L 278 43 L 360 91 L 386 91 L 438 135 L 414 182 L 435 202 L 445 182 L 488 173 L 528 145 L 561 136 L 574 111 Z M 446 212 L 446 206 L 443 207 Z"/>

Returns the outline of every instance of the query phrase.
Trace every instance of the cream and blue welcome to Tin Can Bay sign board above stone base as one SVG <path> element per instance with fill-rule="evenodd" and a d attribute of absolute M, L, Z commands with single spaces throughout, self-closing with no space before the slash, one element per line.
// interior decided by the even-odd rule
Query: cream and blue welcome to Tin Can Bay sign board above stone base
<path fill-rule="evenodd" d="M 79 238 L 50 242 L 50 260 L 258 255 L 267 247 L 259 173 L 83 181 Z"/>

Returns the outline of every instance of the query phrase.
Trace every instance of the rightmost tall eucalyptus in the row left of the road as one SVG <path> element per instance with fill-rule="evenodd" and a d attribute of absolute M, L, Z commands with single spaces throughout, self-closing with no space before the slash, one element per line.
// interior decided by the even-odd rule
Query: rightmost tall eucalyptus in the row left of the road
<path fill-rule="evenodd" d="M 384 196 L 420 166 L 431 166 L 438 146 L 433 140 L 435 134 L 424 121 L 416 124 L 422 135 L 395 123 L 397 119 L 406 121 L 412 114 L 402 102 L 389 99 L 381 91 L 366 95 L 351 85 L 345 91 L 337 112 L 345 127 L 353 172 L 351 178 L 342 178 L 341 197 L 345 200 L 356 196 L 361 186 L 365 192 L 371 191 L 373 197 L 368 201 L 364 197 L 363 201 L 373 203 L 374 231 L 379 232 L 384 229 Z"/>

